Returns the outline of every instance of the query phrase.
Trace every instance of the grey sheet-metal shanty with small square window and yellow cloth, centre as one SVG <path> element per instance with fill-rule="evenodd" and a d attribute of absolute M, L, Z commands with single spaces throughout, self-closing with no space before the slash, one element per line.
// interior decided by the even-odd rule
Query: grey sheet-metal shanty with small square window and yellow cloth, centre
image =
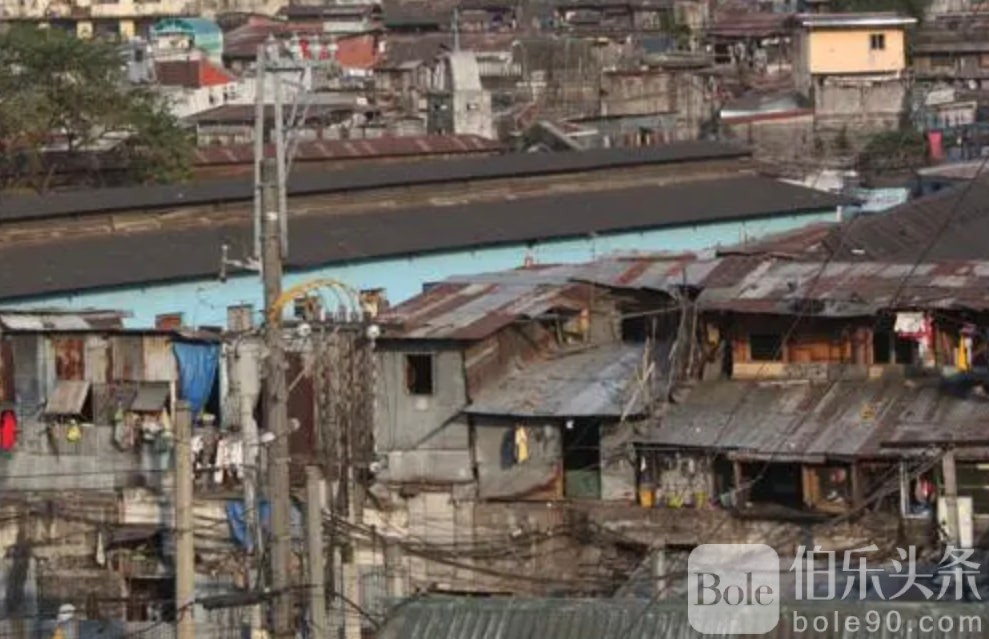
<path fill-rule="evenodd" d="M 677 323 L 668 294 L 609 285 L 678 268 L 605 260 L 454 278 L 383 316 L 379 481 L 634 500 L 628 434 L 655 400 Z M 644 322 L 643 308 L 672 310 Z"/>

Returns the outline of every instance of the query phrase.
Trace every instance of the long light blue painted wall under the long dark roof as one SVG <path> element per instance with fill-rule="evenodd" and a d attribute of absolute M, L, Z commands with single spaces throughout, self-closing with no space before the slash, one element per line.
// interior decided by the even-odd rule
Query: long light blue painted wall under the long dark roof
<path fill-rule="evenodd" d="M 545 242 L 531 247 L 518 244 L 334 264 L 287 273 L 284 286 L 288 288 L 316 278 L 334 278 L 358 290 L 383 288 L 389 302 L 395 304 L 421 292 L 425 283 L 453 275 L 517 268 L 524 263 L 527 255 L 537 263 L 552 264 L 586 262 L 613 252 L 694 251 L 719 244 L 736 244 L 745 238 L 787 231 L 812 222 L 833 222 L 836 218 L 836 211 L 827 210 L 746 222 L 616 233 L 596 238 Z M 98 308 L 126 311 L 132 314 L 126 320 L 131 328 L 154 326 L 155 316 L 166 313 L 183 313 L 188 326 L 224 326 L 227 307 L 239 304 L 252 304 L 256 311 L 262 307 L 258 275 L 239 275 L 226 282 L 202 279 L 0 301 L 4 308 L 14 309 Z M 327 298 L 327 305 L 336 305 L 332 296 Z M 286 309 L 287 312 L 290 310 Z"/>

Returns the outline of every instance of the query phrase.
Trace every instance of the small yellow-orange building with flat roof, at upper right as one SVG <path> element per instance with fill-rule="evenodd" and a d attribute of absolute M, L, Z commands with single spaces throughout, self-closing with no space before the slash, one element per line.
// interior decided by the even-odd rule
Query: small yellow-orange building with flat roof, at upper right
<path fill-rule="evenodd" d="M 905 31 L 916 22 L 895 13 L 800 16 L 797 88 L 806 92 L 815 76 L 900 75 L 906 68 Z"/>

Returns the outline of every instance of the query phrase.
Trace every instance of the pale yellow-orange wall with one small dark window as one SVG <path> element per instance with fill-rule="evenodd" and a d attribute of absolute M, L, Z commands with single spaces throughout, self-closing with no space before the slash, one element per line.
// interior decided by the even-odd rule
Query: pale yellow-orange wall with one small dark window
<path fill-rule="evenodd" d="M 885 36 L 886 47 L 870 48 L 870 37 Z M 805 64 L 812 75 L 840 73 L 889 73 L 906 66 L 902 29 L 812 30 L 807 36 Z"/>

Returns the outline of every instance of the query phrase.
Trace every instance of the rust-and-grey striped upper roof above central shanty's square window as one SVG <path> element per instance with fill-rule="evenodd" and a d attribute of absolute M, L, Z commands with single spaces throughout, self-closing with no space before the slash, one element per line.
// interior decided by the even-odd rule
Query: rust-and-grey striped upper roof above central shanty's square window
<path fill-rule="evenodd" d="M 379 317 L 384 337 L 478 340 L 523 318 L 577 310 L 580 287 L 529 283 L 442 283 Z"/>

